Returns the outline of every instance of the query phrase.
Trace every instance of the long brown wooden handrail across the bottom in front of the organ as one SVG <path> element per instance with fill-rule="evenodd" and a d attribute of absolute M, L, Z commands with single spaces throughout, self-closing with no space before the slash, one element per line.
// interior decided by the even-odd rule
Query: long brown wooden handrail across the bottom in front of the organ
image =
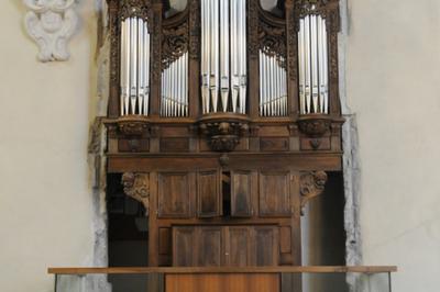
<path fill-rule="evenodd" d="M 384 273 L 397 272 L 395 266 L 316 266 L 316 267 L 124 267 L 48 268 L 51 274 L 147 274 L 147 273 Z"/>

